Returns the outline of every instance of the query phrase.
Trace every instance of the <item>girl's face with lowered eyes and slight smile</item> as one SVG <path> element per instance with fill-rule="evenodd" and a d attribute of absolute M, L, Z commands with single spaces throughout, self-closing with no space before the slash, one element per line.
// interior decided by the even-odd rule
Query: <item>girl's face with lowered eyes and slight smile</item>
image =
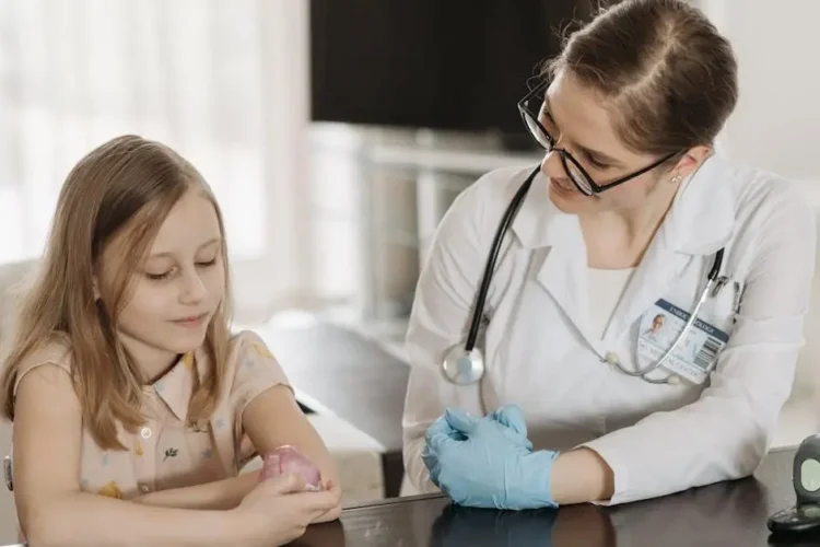
<path fill-rule="evenodd" d="M 204 341 L 225 294 L 222 244 L 213 203 L 192 188 L 171 210 L 148 258 L 132 272 L 117 333 L 148 377 Z M 128 252 L 122 247 L 115 240 L 103 253 L 103 294 L 117 256 Z"/>

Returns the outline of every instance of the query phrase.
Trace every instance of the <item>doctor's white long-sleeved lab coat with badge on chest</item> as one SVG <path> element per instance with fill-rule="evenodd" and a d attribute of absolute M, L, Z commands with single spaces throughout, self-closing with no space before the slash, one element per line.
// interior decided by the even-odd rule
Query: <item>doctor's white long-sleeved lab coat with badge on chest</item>
<path fill-rule="evenodd" d="M 815 223 L 786 181 L 710 158 L 681 185 L 618 303 L 604 338 L 589 328 L 586 247 L 577 217 L 550 201 L 538 175 L 490 287 L 482 335 L 487 373 L 455 386 L 441 373 L 461 344 L 491 241 L 529 173 L 492 172 L 465 190 L 438 226 L 407 335 L 402 420 L 408 478 L 434 491 L 420 453 L 446 407 L 485 415 L 520 405 L 536 449 L 586 445 L 614 472 L 622 503 L 751 474 L 768 450 L 803 346 L 815 265 Z M 601 361 L 634 366 L 640 321 L 664 298 L 691 311 L 714 253 L 730 281 L 699 317 L 729 333 L 705 385 L 655 385 Z M 736 310 L 734 281 L 742 295 Z M 660 371 L 658 371 L 660 373 Z"/>

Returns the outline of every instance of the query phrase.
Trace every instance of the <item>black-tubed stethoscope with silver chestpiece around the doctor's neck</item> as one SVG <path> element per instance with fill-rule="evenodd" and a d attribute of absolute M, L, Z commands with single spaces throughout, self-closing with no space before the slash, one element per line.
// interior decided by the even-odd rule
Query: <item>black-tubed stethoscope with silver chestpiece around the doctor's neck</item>
<path fill-rule="evenodd" d="M 524 184 L 522 184 L 520 188 L 518 188 L 518 190 L 515 193 L 513 199 L 509 200 L 509 205 L 507 206 L 506 211 L 504 211 L 504 216 L 501 218 L 499 228 L 495 230 L 495 236 L 493 237 L 492 246 L 490 247 L 490 254 L 487 257 L 484 274 L 481 276 L 481 283 L 479 284 L 478 294 L 476 295 L 476 305 L 472 311 L 472 317 L 470 318 L 470 329 L 467 333 L 467 340 L 464 342 L 464 345 L 455 345 L 444 356 L 444 361 L 442 362 L 442 372 L 444 373 L 444 376 L 454 384 L 475 384 L 484 375 L 484 356 L 481 353 L 481 350 L 476 347 L 476 342 L 478 340 L 479 330 L 481 328 L 481 319 L 484 314 L 484 302 L 487 301 L 487 293 L 490 290 L 490 281 L 492 281 L 493 270 L 495 269 L 495 261 L 497 260 L 499 253 L 501 252 L 502 240 L 504 238 L 506 232 L 509 230 L 509 226 L 513 223 L 513 220 L 515 220 L 516 214 L 518 214 L 518 210 L 520 209 L 524 199 L 527 197 L 529 187 L 532 185 L 532 181 L 536 178 L 540 171 L 540 165 L 532 170 L 527 179 L 524 181 Z M 660 358 L 655 363 L 644 366 L 643 369 L 630 370 L 623 366 L 623 364 L 621 364 L 620 362 L 620 359 L 618 359 L 618 356 L 613 353 L 607 353 L 607 356 L 602 358 L 601 361 L 617 366 L 619 370 L 621 370 L 621 372 L 629 374 L 630 376 L 641 377 L 642 380 L 652 384 L 676 383 L 676 375 L 670 375 L 665 379 L 652 379 L 647 377 L 646 375 L 655 371 L 658 366 L 664 364 L 667 359 L 669 359 L 678 345 L 680 345 L 681 340 L 686 337 L 687 333 L 689 333 L 689 330 L 692 328 L 692 325 L 694 325 L 694 322 L 698 317 L 698 312 L 700 311 L 703 303 L 707 298 L 717 294 L 717 291 L 719 291 L 723 284 L 727 281 L 726 278 L 719 275 L 721 266 L 723 265 L 724 251 L 724 248 L 721 248 L 715 253 L 712 268 L 710 269 L 706 277 L 706 284 L 701 291 L 701 295 L 698 299 L 698 303 L 695 304 L 694 310 L 692 310 L 692 313 L 689 315 L 689 319 L 687 319 L 687 323 L 683 325 L 681 331 L 678 333 L 678 336 L 672 345 L 664 352 L 663 356 L 660 356 Z"/>

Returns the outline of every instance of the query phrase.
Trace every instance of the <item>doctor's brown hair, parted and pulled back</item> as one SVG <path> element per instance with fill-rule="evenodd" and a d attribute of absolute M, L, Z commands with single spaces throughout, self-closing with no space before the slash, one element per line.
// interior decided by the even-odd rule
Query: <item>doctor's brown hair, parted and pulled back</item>
<path fill-rule="evenodd" d="M 546 75 L 569 71 L 605 97 L 631 149 L 712 144 L 738 96 L 729 43 L 683 0 L 625 0 L 570 35 Z"/>

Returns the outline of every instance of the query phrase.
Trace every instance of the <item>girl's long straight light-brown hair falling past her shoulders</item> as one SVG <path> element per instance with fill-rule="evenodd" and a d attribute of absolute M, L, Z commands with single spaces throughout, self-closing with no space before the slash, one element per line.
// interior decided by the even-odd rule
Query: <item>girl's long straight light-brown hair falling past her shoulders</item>
<path fill-rule="evenodd" d="M 26 359 L 65 340 L 83 422 L 101 447 L 125 449 L 117 439 L 117 423 L 136 431 L 145 419 L 140 412 L 142 377 L 116 336 L 117 317 L 128 301 L 133 271 L 150 252 L 171 209 L 190 189 L 202 191 L 212 201 L 223 240 L 225 298 L 208 326 L 203 347 L 210 372 L 197 381 L 189 404 L 191 421 L 212 415 L 223 386 L 230 339 L 222 214 L 190 163 L 163 144 L 122 136 L 80 160 L 62 186 L 39 275 L 22 302 L 1 377 L 0 403 L 8 419 L 14 419 L 14 387 Z M 118 265 L 110 291 L 97 301 L 95 268 L 115 237 L 122 237 L 129 252 Z"/>

